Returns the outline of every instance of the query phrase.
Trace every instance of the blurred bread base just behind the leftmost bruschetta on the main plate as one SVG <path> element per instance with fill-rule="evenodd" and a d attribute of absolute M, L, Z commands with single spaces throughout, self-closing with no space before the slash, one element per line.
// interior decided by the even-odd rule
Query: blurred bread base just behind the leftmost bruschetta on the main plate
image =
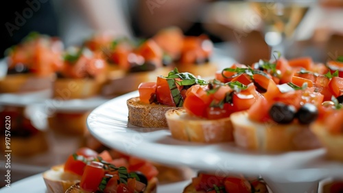
<path fill-rule="evenodd" d="M 120 71 L 114 71 L 104 85 L 102 93 L 103 95 L 122 95 L 136 91 L 141 82 L 156 82 L 157 76 L 167 76 L 169 71 L 171 71 L 169 67 L 161 67 L 154 71 L 126 73 L 124 76 Z"/>

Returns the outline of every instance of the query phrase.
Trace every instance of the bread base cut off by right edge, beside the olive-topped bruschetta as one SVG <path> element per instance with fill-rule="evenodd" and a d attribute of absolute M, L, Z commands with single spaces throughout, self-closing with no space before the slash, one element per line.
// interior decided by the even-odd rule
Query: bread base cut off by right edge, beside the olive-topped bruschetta
<path fill-rule="evenodd" d="M 343 135 L 333 135 L 320 123 L 311 124 L 311 130 L 318 137 L 322 146 L 327 149 L 327 157 L 343 161 Z"/>

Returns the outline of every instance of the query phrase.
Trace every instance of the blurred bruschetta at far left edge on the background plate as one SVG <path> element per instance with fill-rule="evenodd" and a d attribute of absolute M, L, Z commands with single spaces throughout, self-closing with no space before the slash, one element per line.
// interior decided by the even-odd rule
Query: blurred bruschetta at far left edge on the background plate
<path fill-rule="evenodd" d="M 63 44 L 58 38 L 32 32 L 6 52 L 7 75 L 0 78 L 0 93 L 51 89 L 62 66 Z"/>

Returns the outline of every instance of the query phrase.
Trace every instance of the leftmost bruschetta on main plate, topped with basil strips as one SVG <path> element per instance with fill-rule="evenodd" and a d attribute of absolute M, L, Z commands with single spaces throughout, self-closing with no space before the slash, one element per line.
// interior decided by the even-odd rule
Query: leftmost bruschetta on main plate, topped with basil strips
<path fill-rule="evenodd" d="M 128 122 L 142 127 L 167 127 L 165 112 L 182 107 L 185 93 L 193 84 L 207 84 L 191 73 L 170 71 L 158 76 L 156 82 L 139 84 L 139 97 L 127 101 Z"/>

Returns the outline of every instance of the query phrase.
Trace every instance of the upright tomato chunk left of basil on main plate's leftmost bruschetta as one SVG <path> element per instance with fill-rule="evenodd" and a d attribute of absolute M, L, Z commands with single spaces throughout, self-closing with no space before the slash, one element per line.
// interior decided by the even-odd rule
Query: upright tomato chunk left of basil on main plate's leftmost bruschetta
<path fill-rule="evenodd" d="M 167 79 L 161 76 L 158 76 L 156 81 L 156 99 L 160 104 L 176 106 Z"/>

